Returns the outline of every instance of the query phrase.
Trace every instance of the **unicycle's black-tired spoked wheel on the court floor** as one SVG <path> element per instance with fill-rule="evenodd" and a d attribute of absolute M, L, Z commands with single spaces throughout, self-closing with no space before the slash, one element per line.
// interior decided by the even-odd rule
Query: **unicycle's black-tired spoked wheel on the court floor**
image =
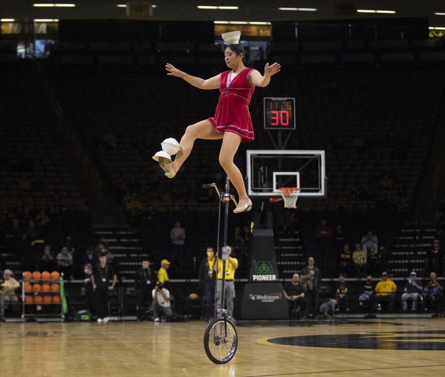
<path fill-rule="evenodd" d="M 224 322 L 227 326 L 225 336 Z M 232 360 L 238 347 L 238 335 L 235 326 L 222 317 L 212 319 L 204 333 L 204 349 L 207 357 L 215 364 L 225 364 Z"/>

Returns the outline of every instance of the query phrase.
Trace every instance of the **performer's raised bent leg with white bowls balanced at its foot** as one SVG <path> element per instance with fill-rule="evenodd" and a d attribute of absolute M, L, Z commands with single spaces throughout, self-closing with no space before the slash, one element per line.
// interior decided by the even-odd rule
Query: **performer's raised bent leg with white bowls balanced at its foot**
<path fill-rule="evenodd" d="M 173 168 L 176 174 L 184 161 L 190 155 L 190 152 L 193 148 L 193 143 L 196 139 L 216 140 L 222 138 L 223 134 L 215 131 L 215 128 L 208 120 L 188 126 L 185 129 L 184 136 L 182 136 L 181 141 L 179 142 L 180 150 L 176 155 L 175 161 L 171 165 L 169 165 L 169 167 Z"/>

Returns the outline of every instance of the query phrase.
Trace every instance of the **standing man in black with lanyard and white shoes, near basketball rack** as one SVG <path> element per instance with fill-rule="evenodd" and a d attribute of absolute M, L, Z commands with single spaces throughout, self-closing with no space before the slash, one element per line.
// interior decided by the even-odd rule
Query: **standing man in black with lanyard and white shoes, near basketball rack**
<path fill-rule="evenodd" d="M 67 249 L 68 250 L 68 249 Z M 110 279 L 113 283 L 109 286 Z M 113 291 L 116 285 L 117 276 L 111 265 L 107 263 L 107 255 L 102 252 L 99 255 L 99 266 L 96 273 L 91 275 L 93 292 L 96 299 L 97 322 L 108 322 L 110 318 L 108 314 L 109 291 Z"/>

